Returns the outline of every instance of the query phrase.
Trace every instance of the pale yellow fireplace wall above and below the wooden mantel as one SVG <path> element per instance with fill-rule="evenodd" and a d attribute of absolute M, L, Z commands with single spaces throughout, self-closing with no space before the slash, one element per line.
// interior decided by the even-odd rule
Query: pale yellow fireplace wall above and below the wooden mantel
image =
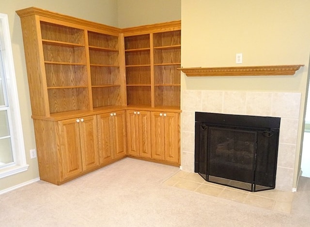
<path fill-rule="evenodd" d="M 182 66 L 305 65 L 294 76 L 204 77 L 183 74 L 181 89 L 301 92 L 303 119 L 310 53 L 308 0 L 182 0 Z M 300 169 L 299 121 L 294 182 Z"/>

